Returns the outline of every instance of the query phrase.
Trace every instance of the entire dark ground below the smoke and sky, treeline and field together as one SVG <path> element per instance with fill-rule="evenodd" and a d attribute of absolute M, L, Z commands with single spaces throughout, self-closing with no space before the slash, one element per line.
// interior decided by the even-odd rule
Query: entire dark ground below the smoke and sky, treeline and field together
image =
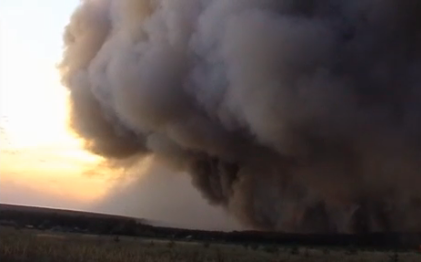
<path fill-rule="evenodd" d="M 0 262 L 421 261 L 420 234 L 211 232 L 147 222 L 1 204 Z"/>

